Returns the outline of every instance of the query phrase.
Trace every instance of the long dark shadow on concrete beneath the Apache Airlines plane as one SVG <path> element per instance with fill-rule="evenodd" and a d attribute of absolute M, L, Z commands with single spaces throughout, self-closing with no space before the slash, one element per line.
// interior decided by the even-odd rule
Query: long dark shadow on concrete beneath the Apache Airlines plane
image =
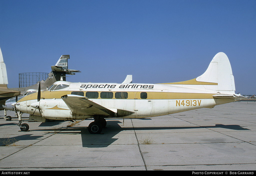
<path fill-rule="evenodd" d="M 87 128 L 84 127 L 70 127 L 58 134 L 81 134 L 82 146 L 88 148 L 101 148 L 108 147 L 110 144 L 118 140 L 113 138 L 118 133 L 124 130 L 172 130 L 172 129 L 197 129 L 197 128 L 226 128 L 232 130 L 250 130 L 243 128 L 240 125 L 222 125 L 216 124 L 215 126 L 182 126 L 182 127 L 121 127 L 119 124 L 122 123 L 119 120 L 113 120 L 107 122 L 107 127 L 103 128 L 101 134 L 90 134 Z"/>

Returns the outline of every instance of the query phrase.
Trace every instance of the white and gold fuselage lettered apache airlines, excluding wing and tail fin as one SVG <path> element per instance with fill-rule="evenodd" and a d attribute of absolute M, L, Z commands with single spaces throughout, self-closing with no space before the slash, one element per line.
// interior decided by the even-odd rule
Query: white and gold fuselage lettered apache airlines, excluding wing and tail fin
<path fill-rule="evenodd" d="M 177 112 L 189 111 L 203 107 L 212 108 L 218 104 L 233 102 L 232 99 L 213 98 L 217 94 L 213 87 L 216 84 L 117 84 L 117 83 L 70 83 L 65 88 L 41 91 L 41 99 L 37 101 L 37 93 L 20 99 L 16 108 L 24 113 L 42 116 L 48 119 L 85 119 L 93 116 L 73 114 L 61 96 L 75 94 L 87 97 L 105 108 L 115 112 L 117 109 L 133 112 L 123 118 L 155 117 Z M 56 86 L 55 86 L 56 87 Z M 52 90 L 51 90 L 52 89 Z M 39 108 L 31 104 L 38 102 Z M 41 112 L 39 112 L 39 109 Z"/>

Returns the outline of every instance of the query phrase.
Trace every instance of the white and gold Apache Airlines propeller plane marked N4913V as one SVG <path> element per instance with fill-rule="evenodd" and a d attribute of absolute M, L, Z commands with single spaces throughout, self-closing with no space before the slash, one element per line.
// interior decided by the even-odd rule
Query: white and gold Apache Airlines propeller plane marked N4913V
<path fill-rule="evenodd" d="M 40 90 L 40 87 L 39 87 Z M 71 83 L 57 81 L 47 91 L 38 91 L 20 99 L 13 106 L 21 124 L 21 114 L 30 120 L 77 120 L 94 118 L 88 130 L 101 133 L 105 118 L 147 118 L 213 108 L 246 97 L 235 94 L 234 77 L 225 53 L 220 52 L 201 76 L 183 82 L 165 84 Z"/>

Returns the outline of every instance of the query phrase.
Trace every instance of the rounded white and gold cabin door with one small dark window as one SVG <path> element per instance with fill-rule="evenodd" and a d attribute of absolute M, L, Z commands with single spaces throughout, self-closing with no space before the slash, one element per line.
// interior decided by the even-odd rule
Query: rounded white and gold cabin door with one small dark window
<path fill-rule="evenodd" d="M 152 96 L 151 92 L 140 90 L 135 94 L 135 113 L 136 115 L 148 116 L 152 111 Z"/>

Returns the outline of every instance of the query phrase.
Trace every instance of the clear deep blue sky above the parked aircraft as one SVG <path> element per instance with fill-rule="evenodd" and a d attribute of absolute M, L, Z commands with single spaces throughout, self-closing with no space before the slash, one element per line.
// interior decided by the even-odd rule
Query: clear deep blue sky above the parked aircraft
<path fill-rule="evenodd" d="M 0 0 L 8 87 L 49 73 L 61 55 L 70 82 L 168 83 L 194 79 L 227 54 L 236 93 L 256 94 L 255 0 Z"/>

